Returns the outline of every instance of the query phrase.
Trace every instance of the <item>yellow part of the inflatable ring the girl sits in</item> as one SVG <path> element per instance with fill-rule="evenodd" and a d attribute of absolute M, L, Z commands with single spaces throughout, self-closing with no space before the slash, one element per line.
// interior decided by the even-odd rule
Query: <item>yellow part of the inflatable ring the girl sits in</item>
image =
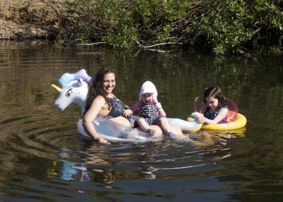
<path fill-rule="evenodd" d="M 187 119 L 192 121 L 193 119 Z M 247 124 L 247 119 L 243 114 L 238 113 L 235 121 L 226 124 L 202 124 L 203 130 L 214 130 L 214 131 L 228 131 L 234 129 L 241 129 Z"/>

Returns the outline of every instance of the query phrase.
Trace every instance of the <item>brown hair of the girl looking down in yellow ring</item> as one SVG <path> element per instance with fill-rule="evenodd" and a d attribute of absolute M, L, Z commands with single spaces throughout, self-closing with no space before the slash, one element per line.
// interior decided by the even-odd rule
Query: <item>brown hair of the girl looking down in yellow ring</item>
<path fill-rule="evenodd" d="M 221 88 L 219 88 L 218 86 L 212 86 L 204 90 L 204 105 L 207 104 L 207 100 L 205 100 L 206 97 L 214 97 L 215 99 L 217 99 L 218 109 L 221 109 L 221 107 L 227 105 L 226 97 Z"/>

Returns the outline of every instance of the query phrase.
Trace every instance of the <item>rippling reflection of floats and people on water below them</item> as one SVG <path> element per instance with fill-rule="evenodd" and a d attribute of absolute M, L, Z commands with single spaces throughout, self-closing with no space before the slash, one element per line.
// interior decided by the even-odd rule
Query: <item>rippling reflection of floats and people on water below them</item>
<path fill-rule="evenodd" d="M 224 148 L 227 142 L 231 143 L 229 133 L 221 136 L 212 133 L 207 136 L 204 133 L 190 135 L 192 143 L 161 141 L 98 145 L 81 139 L 79 162 L 70 161 L 73 159 L 71 154 L 78 151 L 60 148 L 61 152 L 57 153 L 59 159 L 53 161 L 52 174 L 63 180 L 96 182 L 108 189 L 113 188 L 112 184 L 117 180 L 174 179 L 176 173 L 190 174 L 195 172 L 190 170 L 206 170 L 205 167 L 216 165 L 219 160 L 231 156 L 230 149 Z M 197 142 L 199 144 L 195 144 Z M 178 155 L 174 155 L 176 151 L 173 150 L 179 150 Z"/>

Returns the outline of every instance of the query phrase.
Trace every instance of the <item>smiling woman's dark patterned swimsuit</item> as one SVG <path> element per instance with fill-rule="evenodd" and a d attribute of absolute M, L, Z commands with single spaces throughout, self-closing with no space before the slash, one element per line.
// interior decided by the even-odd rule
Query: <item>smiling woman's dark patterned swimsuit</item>
<path fill-rule="evenodd" d="M 123 115 L 124 109 L 126 109 L 126 106 L 124 105 L 123 102 L 117 99 L 117 97 L 112 97 L 109 98 L 110 103 L 111 103 L 111 112 L 105 117 L 106 119 L 111 119 L 115 117 L 125 117 Z M 131 127 L 134 127 L 135 122 L 137 121 L 137 118 L 129 115 L 129 117 L 125 117 L 128 121 Z"/>

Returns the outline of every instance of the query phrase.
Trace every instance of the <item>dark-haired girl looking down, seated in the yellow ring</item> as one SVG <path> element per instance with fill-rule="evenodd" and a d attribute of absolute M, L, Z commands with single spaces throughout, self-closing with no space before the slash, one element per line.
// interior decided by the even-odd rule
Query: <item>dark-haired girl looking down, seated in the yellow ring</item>
<path fill-rule="evenodd" d="M 198 111 L 200 97 L 195 98 L 195 112 Z M 227 121 L 227 100 L 218 86 L 212 86 L 204 90 L 204 107 L 201 115 L 196 118 L 197 123 L 223 124 Z"/>

